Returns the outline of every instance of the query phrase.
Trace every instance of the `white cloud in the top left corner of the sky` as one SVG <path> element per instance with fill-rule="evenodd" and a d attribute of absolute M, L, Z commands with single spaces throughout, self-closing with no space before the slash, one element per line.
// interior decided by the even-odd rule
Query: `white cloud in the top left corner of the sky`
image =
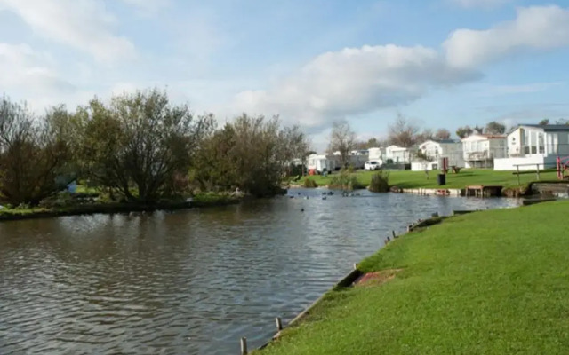
<path fill-rule="evenodd" d="M 0 0 L 36 35 L 91 54 L 98 61 L 132 59 L 134 45 L 111 29 L 116 19 L 97 0 Z"/>

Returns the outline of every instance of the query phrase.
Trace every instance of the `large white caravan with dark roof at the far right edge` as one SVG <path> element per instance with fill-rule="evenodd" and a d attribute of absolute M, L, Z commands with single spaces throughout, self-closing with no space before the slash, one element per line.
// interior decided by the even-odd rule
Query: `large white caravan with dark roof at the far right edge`
<path fill-rule="evenodd" d="M 509 133 L 507 155 L 494 160 L 494 170 L 536 170 L 556 166 L 569 155 L 569 126 L 523 124 Z"/>

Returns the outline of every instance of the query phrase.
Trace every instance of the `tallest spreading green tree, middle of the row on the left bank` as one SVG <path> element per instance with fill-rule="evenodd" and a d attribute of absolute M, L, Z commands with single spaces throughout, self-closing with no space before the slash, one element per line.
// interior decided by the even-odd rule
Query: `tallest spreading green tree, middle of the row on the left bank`
<path fill-rule="evenodd" d="M 92 99 L 77 112 L 84 170 L 127 201 L 154 202 L 175 193 L 192 158 L 213 128 L 212 115 L 194 117 L 156 89 Z"/>

